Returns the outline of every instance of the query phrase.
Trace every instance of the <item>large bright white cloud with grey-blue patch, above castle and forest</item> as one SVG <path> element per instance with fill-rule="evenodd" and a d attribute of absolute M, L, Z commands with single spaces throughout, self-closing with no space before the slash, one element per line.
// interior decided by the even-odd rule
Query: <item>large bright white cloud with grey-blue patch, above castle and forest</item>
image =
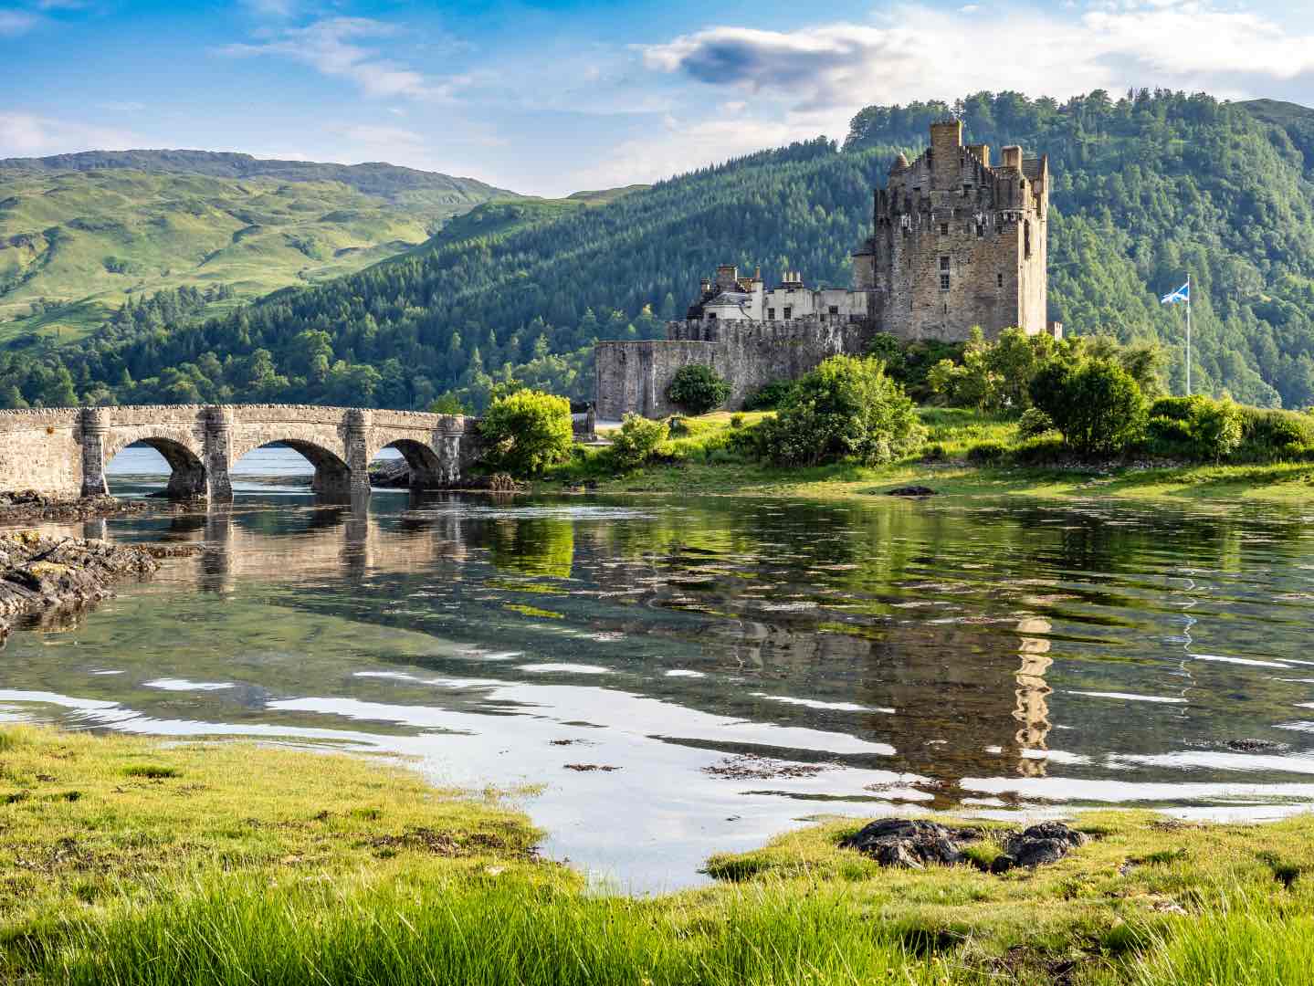
<path fill-rule="evenodd" d="M 644 59 L 804 113 L 979 89 L 1063 97 L 1134 84 L 1240 96 L 1303 77 L 1314 88 L 1314 32 L 1293 34 L 1204 0 L 1114 0 L 1067 18 L 1028 11 L 971 21 L 905 5 L 871 24 L 710 28 L 649 46 Z"/>

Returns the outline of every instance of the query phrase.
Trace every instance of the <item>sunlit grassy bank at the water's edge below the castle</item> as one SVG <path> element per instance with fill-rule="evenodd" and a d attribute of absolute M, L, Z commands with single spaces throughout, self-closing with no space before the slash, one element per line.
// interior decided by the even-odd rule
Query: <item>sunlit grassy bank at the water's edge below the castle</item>
<path fill-rule="evenodd" d="M 648 466 L 618 475 L 603 448 L 577 449 L 545 477 L 549 491 L 597 484 L 603 492 L 737 494 L 842 498 L 926 486 L 957 496 L 1120 496 L 1188 500 L 1303 500 L 1314 495 L 1314 462 L 1185 465 L 1129 456 L 1104 465 L 1010 461 L 1037 456 L 1016 421 L 958 408 L 918 408 L 926 428 L 922 453 L 884 466 L 841 462 L 777 467 L 736 449 L 736 433 L 765 415 L 724 411 L 685 419 L 687 433 L 669 439 Z"/>

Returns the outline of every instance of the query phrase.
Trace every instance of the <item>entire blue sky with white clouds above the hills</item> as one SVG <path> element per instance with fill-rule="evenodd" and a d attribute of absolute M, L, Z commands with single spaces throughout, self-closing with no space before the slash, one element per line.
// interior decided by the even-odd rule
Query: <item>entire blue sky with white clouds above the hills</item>
<path fill-rule="evenodd" d="M 1235 0 L 0 0 L 0 158 L 189 147 L 562 194 L 871 102 L 1129 85 L 1314 105 L 1314 12 Z"/>

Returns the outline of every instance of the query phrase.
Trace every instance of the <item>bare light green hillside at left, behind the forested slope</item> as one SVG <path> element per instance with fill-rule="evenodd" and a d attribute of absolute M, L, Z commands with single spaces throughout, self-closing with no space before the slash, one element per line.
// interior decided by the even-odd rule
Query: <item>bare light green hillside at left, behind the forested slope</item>
<path fill-rule="evenodd" d="M 240 177 L 226 175 L 243 163 Z M 246 155 L 97 151 L 0 161 L 0 339 L 79 335 L 126 298 L 184 285 L 231 307 L 359 270 L 509 194 L 392 165 Z"/>

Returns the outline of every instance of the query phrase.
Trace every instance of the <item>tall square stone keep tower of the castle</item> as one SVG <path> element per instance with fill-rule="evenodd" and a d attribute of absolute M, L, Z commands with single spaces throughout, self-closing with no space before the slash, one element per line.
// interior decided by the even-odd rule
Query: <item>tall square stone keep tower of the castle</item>
<path fill-rule="evenodd" d="M 875 193 L 872 236 L 853 257 L 854 289 L 900 339 L 959 341 L 1047 327 L 1049 158 L 963 146 L 961 121 L 933 123 L 930 148 L 903 155 Z"/>

